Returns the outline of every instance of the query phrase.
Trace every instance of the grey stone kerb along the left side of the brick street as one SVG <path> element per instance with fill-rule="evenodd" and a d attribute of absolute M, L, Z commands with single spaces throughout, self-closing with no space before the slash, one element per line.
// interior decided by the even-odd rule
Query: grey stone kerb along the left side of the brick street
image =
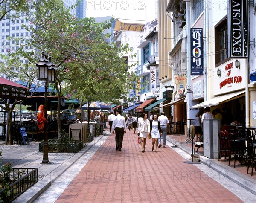
<path fill-rule="evenodd" d="M 60 166 L 55 169 L 58 169 L 58 176 L 55 176 L 52 180 L 48 179 L 48 174 L 44 176 L 41 180 L 39 180 L 35 185 L 30 187 L 27 191 L 17 197 L 13 203 L 32 203 L 40 194 L 51 186 L 51 184 L 58 179 L 70 166 L 75 163 L 81 156 L 83 156 L 90 148 L 92 148 L 97 142 L 99 142 L 106 133 L 101 134 L 98 136 L 98 140 L 96 142 L 87 143 L 87 146 L 77 152 L 73 157 L 71 157 L 68 161 L 64 162 Z M 50 171 L 51 172 L 51 171 Z"/>

